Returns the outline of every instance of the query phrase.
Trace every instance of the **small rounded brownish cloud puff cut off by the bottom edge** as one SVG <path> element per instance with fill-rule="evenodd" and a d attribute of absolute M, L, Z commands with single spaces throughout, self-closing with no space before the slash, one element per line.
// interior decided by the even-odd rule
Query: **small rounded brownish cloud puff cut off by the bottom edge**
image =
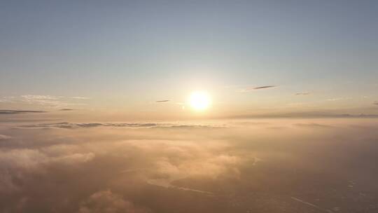
<path fill-rule="evenodd" d="M 78 213 L 148 213 L 150 209 L 137 207 L 110 190 L 98 191 L 80 205 Z"/>

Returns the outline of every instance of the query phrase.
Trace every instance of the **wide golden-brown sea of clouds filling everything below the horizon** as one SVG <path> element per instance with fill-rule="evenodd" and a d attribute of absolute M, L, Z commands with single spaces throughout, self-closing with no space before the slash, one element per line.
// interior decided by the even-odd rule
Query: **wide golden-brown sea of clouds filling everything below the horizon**
<path fill-rule="evenodd" d="M 0 212 L 377 210 L 375 119 L 40 123 L 0 134 Z"/>

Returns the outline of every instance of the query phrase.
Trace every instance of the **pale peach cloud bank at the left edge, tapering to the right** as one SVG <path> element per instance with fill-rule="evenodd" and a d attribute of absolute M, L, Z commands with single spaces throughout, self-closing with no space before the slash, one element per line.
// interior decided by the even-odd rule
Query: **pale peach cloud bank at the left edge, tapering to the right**
<path fill-rule="evenodd" d="M 22 182 L 28 181 L 30 172 L 31 174 L 45 172 L 45 167 L 50 165 L 72 167 L 87 163 L 95 156 L 92 152 L 66 149 L 66 145 L 45 146 L 41 149 L 4 149 L 4 146 L 12 145 L 1 144 L 0 149 L 0 191 L 3 193 L 16 193 L 22 190 Z"/>

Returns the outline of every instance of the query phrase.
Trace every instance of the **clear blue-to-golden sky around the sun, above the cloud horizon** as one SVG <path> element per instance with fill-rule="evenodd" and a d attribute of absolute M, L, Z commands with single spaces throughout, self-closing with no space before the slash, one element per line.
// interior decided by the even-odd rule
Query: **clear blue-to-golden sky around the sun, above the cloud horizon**
<path fill-rule="evenodd" d="M 378 114 L 377 10 L 377 1 L 1 1 L 0 109 L 112 120 Z M 211 97 L 206 113 L 188 106 L 193 91 Z"/>

